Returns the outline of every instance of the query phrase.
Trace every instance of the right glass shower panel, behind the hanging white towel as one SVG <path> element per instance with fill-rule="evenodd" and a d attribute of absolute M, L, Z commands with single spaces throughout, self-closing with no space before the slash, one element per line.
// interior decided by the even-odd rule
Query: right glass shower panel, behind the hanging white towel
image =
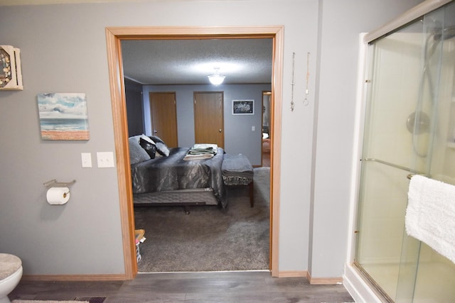
<path fill-rule="evenodd" d="M 429 117 L 427 150 L 414 166 L 434 180 L 455 184 L 455 2 L 422 18 L 422 72 L 417 110 Z M 405 234 L 396 302 L 455 302 L 455 265 Z"/>

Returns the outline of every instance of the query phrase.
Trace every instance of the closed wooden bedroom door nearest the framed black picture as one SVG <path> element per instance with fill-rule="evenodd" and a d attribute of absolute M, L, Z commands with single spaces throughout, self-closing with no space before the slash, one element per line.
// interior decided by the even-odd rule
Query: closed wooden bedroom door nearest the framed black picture
<path fill-rule="evenodd" d="M 224 148 L 223 92 L 194 93 L 194 138 Z"/>

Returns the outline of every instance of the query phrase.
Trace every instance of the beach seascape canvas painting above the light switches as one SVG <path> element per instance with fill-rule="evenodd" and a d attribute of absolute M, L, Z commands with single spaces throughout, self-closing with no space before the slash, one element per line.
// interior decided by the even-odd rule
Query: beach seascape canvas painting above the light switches
<path fill-rule="evenodd" d="M 89 140 L 85 94 L 38 94 L 43 140 Z"/>

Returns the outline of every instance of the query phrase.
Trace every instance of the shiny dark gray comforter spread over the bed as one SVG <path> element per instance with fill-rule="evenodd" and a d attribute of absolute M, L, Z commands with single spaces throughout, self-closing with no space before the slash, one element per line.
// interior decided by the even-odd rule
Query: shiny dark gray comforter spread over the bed
<path fill-rule="evenodd" d="M 190 148 L 170 148 L 168 157 L 157 157 L 131 165 L 133 194 L 178 189 L 211 188 L 223 207 L 225 187 L 221 165 L 223 148 L 211 159 L 183 160 Z"/>

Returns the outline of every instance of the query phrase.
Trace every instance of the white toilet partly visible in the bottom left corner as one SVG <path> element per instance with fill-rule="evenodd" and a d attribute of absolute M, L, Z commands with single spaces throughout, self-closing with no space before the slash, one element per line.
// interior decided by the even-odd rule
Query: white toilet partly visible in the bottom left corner
<path fill-rule="evenodd" d="M 22 261 L 16 255 L 0 253 L 0 303 L 10 303 L 8 294 L 22 277 Z"/>

